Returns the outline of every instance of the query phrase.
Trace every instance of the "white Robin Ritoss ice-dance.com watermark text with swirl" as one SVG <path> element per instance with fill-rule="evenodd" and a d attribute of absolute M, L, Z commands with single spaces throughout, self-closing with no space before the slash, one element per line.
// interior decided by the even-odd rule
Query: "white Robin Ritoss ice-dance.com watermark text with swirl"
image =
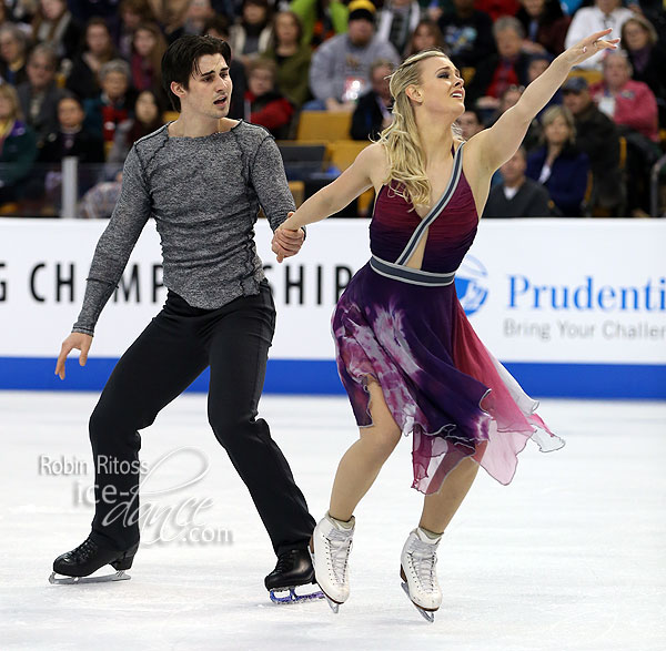
<path fill-rule="evenodd" d="M 188 460 L 186 457 L 190 457 Z M 196 467 L 192 467 L 192 461 Z M 142 545 L 232 545 L 233 532 L 229 529 L 215 528 L 202 521 L 202 513 L 209 510 L 214 501 L 210 497 L 189 496 L 169 500 L 167 494 L 182 491 L 200 482 L 209 472 L 208 457 L 198 448 L 182 447 L 160 457 L 152 466 L 138 459 L 127 460 L 100 455 L 95 462 L 78 459 L 50 457 L 40 455 L 38 472 L 52 477 L 85 477 L 92 475 L 97 466 L 98 475 L 137 475 L 139 490 L 120 490 L 113 484 L 104 484 L 100 490 L 97 485 L 75 480 L 72 485 L 72 498 L 75 507 L 94 507 L 98 500 L 111 506 L 104 518 L 104 525 L 121 520 L 123 526 L 139 523 Z M 191 467 L 190 475 L 183 469 Z M 167 486 L 160 486 L 164 476 L 173 479 Z M 97 492 L 97 496 L 95 496 Z M 138 496 L 141 500 L 139 502 Z M 160 503 L 158 503 L 160 500 Z"/>

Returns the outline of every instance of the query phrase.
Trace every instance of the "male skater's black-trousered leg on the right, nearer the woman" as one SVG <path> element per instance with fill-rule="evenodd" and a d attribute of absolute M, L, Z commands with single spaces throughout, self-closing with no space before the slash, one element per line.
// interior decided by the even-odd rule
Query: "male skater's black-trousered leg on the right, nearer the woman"
<path fill-rule="evenodd" d="M 314 520 L 265 420 L 256 418 L 275 309 L 268 286 L 222 308 L 211 330 L 209 420 L 248 486 L 275 553 L 305 548 Z"/>

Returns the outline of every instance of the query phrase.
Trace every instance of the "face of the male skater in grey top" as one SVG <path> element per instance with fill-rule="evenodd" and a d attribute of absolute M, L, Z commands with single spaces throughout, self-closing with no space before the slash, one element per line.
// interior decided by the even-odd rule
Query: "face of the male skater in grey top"
<path fill-rule="evenodd" d="M 199 59 L 190 75 L 188 89 L 173 82 L 181 90 L 180 101 L 183 112 L 191 112 L 204 118 L 220 120 L 229 113 L 232 83 L 229 77 L 229 65 L 222 54 L 204 54 Z"/>

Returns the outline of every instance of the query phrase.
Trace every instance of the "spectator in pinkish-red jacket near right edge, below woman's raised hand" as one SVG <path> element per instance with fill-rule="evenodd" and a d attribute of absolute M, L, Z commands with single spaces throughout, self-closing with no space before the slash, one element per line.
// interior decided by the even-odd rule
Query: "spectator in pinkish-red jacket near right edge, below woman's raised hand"
<path fill-rule="evenodd" d="M 604 59 L 604 80 L 591 89 L 599 111 L 653 142 L 659 141 L 657 100 L 649 87 L 632 79 L 632 64 L 618 50 Z"/>

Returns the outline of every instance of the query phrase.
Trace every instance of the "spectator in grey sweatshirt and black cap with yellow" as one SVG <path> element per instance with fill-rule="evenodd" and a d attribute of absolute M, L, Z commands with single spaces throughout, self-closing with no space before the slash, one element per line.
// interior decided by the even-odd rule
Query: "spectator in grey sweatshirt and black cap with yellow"
<path fill-rule="evenodd" d="M 322 43 L 312 57 L 310 89 L 315 100 L 310 111 L 353 111 L 355 101 L 370 85 L 370 67 L 377 59 L 397 65 L 400 55 L 374 31 L 375 8 L 370 0 L 350 3 L 349 29 Z"/>

